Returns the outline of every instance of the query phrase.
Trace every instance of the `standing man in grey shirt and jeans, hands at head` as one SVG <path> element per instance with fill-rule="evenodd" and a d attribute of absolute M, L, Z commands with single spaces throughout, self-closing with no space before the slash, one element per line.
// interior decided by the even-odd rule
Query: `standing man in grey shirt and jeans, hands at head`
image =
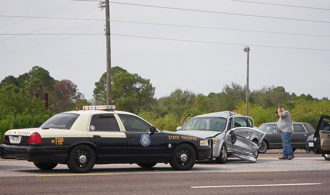
<path fill-rule="evenodd" d="M 281 133 L 282 146 L 283 146 L 283 156 L 280 160 L 291 160 L 294 158 L 292 146 L 291 146 L 291 133 L 292 122 L 291 115 L 288 111 L 284 110 L 281 106 L 277 109 L 277 114 L 279 114 L 280 119 L 277 122 L 277 130 Z"/>

